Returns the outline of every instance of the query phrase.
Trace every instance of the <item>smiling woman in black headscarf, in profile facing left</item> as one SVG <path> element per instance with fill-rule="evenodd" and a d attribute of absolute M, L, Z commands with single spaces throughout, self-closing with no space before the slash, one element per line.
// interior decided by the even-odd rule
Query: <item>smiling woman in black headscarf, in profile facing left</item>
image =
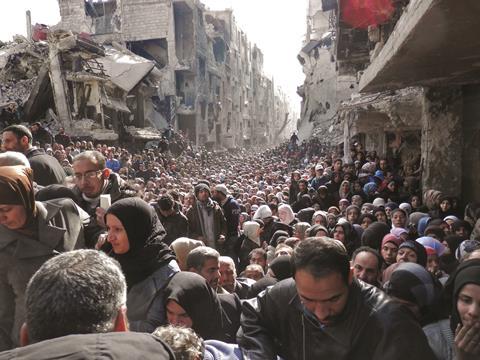
<path fill-rule="evenodd" d="M 162 289 L 180 271 L 172 250 L 162 241 L 165 230 L 153 207 L 140 198 L 121 199 L 105 214 L 109 255 L 127 281 L 130 329 L 152 332 L 165 323 Z"/>

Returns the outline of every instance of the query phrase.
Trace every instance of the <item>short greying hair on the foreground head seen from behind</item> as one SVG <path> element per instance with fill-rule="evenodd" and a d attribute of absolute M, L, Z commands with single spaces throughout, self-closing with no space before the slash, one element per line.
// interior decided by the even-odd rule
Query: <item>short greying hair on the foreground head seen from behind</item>
<path fill-rule="evenodd" d="M 110 332 L 126 303 L 117 261 L 96 250 L 76 250 L 45 262 L 30 279 L 26 323 L 31 342 Z"/>

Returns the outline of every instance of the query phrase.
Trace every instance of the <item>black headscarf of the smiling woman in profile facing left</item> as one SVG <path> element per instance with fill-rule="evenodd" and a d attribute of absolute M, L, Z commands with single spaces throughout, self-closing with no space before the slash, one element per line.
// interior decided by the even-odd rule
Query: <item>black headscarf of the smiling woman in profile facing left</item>
<path fill-rule="evenodd" d="M 160 267 L 175 259 L 170 248 L 162 242 L 165 229 L 155 210 L 140 198 L 121 199 L 110 206 L 105 214 L 115 215 L 128 236 L 130 249 L 125 254 L 111 256 L 118 260 L 130 289 Z"/>

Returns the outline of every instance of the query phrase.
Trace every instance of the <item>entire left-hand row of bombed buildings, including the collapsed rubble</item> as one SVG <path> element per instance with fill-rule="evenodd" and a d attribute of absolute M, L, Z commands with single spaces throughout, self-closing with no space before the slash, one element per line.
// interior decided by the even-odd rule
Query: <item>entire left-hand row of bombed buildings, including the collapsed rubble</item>
<path fill-rule="evenodd" d="M 59 7 L 48 41 L 0 49 L 5 116 L 105 141 L 155 140 L 169 126 L 212 148 L 289 136 L 286 97 L 231 10 L 208 11 L 198 0 L 59 0 Z M 38 65 L 16 76 L 12 69 L 25 72 L 21 63 L 32 56 Z M 8 95 L 9 76 L 18 96 Z"/>

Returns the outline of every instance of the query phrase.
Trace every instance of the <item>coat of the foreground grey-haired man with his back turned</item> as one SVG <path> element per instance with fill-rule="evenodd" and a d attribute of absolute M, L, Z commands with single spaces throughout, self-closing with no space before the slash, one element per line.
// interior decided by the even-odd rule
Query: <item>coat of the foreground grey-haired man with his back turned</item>
<path fill-rule="evenodd" d="M 174 360 L 172 350 L 150 334 L 110 332 L 63 336 L 0 353 L 0 360 Z"/>

